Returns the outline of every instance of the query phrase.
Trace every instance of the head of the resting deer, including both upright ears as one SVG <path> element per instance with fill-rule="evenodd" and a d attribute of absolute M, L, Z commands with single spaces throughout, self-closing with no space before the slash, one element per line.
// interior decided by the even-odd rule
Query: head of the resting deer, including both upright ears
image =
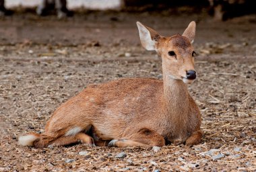
<path fill-rule="evenodd" d="M 158 32 L 137 22 L 139 38 L 146 50 L 156 50 L 162 57 L 163 73 L 171 79 L 192 83 L 197 77 L 194 68 L 195 22 L 191 22 L 183 35 L 160 36 Z"/>

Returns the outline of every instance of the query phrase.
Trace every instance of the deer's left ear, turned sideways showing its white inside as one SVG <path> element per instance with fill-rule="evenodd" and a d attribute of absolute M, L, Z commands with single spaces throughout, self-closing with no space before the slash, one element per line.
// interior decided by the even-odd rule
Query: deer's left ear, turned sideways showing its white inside
<path fill-rule="evenodd" d="M 144 26 L 140 22 L 136 22 L 136 24 L 142 46 L 146 48 L 146 50 L 156 50 L 156 42 L 158 42 L 161 36 L 155 30 Z"/>

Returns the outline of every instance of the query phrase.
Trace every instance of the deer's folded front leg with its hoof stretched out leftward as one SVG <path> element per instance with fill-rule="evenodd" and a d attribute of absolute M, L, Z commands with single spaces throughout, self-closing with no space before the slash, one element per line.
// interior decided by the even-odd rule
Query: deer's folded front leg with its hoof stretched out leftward
<path fill-rule="evenodd" d="M 118 146 L 118 147 L 128 147 L 128 146 L 141 146 L 141 147 L 152 147 L 152 146 L 164 146 L 165 140 L 164 138 L 154 132 L 152 130 L 148 130 L 147 128 L 142 128 L 135 134 L 131 136 L 119 139 L 119 140 L 111 140 L 108 143 L 108 146 Z"/>

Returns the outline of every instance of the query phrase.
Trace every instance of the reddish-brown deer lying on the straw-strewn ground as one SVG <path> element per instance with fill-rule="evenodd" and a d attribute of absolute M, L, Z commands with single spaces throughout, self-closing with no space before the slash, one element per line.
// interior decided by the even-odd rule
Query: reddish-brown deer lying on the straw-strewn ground
<path fill-rule="evenodd" d="M 187 84 L 194 67 L 195 22 L 183 34 L 164 37 L 137 22 L 143 48 L 162 58 L 162 79 L 127 78 L 89 85 L 60 105 L 42 134 L 18 138 L 23 146 L 44 148 L 82 142 L 90 146 L 199 144 L 201 114 Z"/>

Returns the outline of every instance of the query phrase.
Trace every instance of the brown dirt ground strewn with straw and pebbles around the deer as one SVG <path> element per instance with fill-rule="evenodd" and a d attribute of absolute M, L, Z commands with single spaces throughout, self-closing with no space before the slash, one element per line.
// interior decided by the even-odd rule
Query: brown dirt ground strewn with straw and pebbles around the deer
<path fill-rule="evenodd" d="M 191 20 L 198 79 L 188 87 L 203 118 L 200 144 L 158 151 L 18 145 L 20 134 L 43 132 L 53 111 L 90 83 L 162 78 L 136 21 L 171 36 Z M 214 22 L 201 13 L 16 14 L 0 26 L 0 171 L 256 171 L 256 15 Z"/>

